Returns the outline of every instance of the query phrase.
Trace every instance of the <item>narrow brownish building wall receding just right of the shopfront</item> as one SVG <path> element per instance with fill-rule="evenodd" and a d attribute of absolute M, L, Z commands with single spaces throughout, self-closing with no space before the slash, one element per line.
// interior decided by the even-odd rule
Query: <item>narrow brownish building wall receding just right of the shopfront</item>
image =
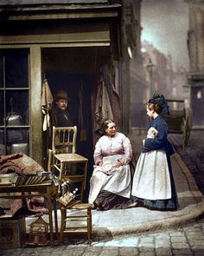
<path fill-rule="evenodd" d="M 123 73 L 122 87 L 120 95 L 122 97 L 122 119 L 124 121 L 123 130 L 126 134 L 131 132 L 132 116 L 135 113 L 135 102 L 139 101 L 138 95 L 141 89 L 138 82 L 132 82 L 133 73 L 139 73 L 140 55 L 140 10 L 142 0 L 124 0 L 123 1 L 123 52 L 124 57 L 122 63 Z M 137 63 L 136 65 L 133 64 Z M 133 70 L 134 69 L 134 70 Z"/>

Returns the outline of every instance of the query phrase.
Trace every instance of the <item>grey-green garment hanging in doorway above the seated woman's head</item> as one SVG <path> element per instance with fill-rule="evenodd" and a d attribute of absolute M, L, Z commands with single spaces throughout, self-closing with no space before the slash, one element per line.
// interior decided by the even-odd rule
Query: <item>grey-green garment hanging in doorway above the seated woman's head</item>
<path fill-rule="evenodd" d="M 99 131 L 103 121 L 105 121 L 106 119 L 113 119 L 112 106 L 108 97 L 107 90 L 105 89 L 105 83 L 100 82 L 98 85 L 98 92 L 96 97 L 94 122 L 95 131 Z"/>

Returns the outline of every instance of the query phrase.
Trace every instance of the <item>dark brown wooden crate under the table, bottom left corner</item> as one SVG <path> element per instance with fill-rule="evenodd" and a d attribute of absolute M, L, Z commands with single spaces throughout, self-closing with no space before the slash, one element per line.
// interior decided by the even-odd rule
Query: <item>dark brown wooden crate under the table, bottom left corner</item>
<path fill-rule="evenodd" d="M 17 248 L 26 242 L 25 217 L 0 219 L 0 248 Z"/>

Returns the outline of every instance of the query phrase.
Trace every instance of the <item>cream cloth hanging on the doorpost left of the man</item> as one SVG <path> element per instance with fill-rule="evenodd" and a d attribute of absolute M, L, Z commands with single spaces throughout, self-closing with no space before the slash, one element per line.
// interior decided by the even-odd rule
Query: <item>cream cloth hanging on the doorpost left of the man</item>
<path fill-rule="evenodd" d="M 42 130 L 46 131 L 50 127 L 49 110 L 52 106 L 53 95 L 49 89 L 47 79 L 42 82 L 41 88 L 41 112 L 44 115 Z"/>

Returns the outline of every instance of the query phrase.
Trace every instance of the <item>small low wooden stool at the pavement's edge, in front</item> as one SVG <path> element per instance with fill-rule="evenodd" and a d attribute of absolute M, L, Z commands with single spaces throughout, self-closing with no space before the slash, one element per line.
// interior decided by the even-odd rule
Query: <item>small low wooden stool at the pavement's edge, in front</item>
<path fill-rule="evenodd" d="M 86 222 L 85 225 L 70 225 L 73 222 Z M 67 224 L 67 222 L 69 222 Z M 66 225 L 67 224 L 67 225 Z M 88 244 L 92 240 L 92 204 L 76 203 L 72 207 L 61 207 L 61 233 L 60 242 L 64 233 L 87 233 Z"/>

